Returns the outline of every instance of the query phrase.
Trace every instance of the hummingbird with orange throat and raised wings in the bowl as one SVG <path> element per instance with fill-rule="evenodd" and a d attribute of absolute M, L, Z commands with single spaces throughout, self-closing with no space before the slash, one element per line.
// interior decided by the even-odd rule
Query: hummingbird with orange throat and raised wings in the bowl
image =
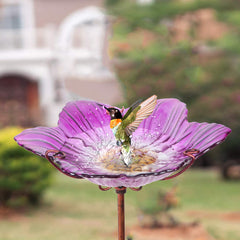
<path fill-rule="evenodd" d="M 123 154 L 123 161 L 127 166 L 131 162 L 131 135 L 140 123 L 152 114 L 156 103 L 156 95 L 149 97 L 144 102 L 138 100 L 130 106 L 124 116 L 124 108 L 119 110 L 114 107 L 107 108 L 104 106 L 111 117 L 110 128 L 115 135 L 116 144 L 122 147 L 121 153 Z"/>

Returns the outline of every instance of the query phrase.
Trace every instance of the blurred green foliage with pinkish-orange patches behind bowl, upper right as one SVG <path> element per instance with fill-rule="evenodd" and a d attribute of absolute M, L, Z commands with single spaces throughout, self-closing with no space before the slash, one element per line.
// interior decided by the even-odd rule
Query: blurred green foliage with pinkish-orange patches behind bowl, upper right
<path fill-rule="evenodd" d="M 215 159 L 239 156 L 240 3 L 107 3 L 116 16 L 111 49 L 127 103 L 151 94 L 179 98 L 187 103 L 189 120 L 217 122 L 232 129 L 221 152 L 215 150 Z M 215 35 L 214 24 L 220 29 Z M 187 30 L 179 39 L 182 26 Z"/>

